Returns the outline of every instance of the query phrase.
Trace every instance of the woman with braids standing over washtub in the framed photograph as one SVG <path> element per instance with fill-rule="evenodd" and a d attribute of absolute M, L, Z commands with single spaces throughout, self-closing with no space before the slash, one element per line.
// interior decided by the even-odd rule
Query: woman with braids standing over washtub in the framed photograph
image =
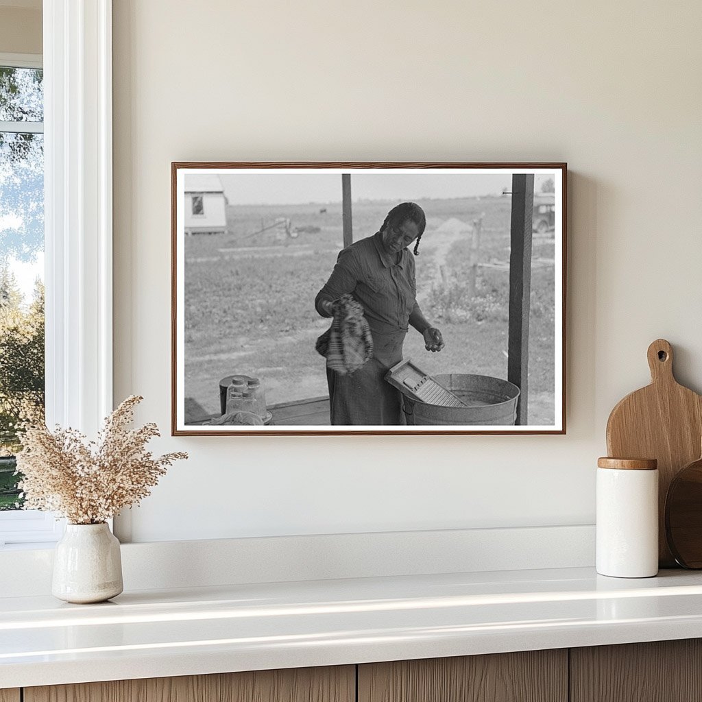
<path fill-rule="evenodd" d="M 350 293 L 363 307 L 373 337 L 373 357 L 350 375 L 326 370 L 333 425 L 404 424 L 402 394 L 385 381 L 385 373 L 402 361 L 409 326 L 424 338 L 428 351 L 441 351 L 441 332 L 422 314 L 416 300 L 414 256 L 426 218 L 418 204 L 403 202 L 390 210 L 380 230 L 340 251 L 329 280 L 314 306 L 322 317 L 333 315 L 333 302 Z"/>

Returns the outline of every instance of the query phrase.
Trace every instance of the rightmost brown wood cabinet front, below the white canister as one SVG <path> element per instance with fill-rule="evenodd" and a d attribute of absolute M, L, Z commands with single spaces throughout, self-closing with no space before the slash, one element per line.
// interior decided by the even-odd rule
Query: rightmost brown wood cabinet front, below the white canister
<path fill-rule="evenodd" d="M 571 702 L 702 700 L 702 640 L 571 649 Z"/>

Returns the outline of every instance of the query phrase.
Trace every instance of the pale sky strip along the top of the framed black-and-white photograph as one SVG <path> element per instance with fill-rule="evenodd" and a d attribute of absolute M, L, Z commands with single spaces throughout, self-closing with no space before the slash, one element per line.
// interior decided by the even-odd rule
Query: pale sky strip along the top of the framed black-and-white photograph
<path fill-rule="evenodd" d="M 186 187 L 190 187 L 187 175 Z M 222 175 L 232 205 L 304 204 L 341 201 L 341 176 L 336 173 L 280 173 Z M 512 177 L 501 174 L 353 173 L 351 198 L 358 200 L 419 200 L 427 198 L 499 195 L 510 190 Z M 538 186 L 537 186 L 538 187 Z"/>

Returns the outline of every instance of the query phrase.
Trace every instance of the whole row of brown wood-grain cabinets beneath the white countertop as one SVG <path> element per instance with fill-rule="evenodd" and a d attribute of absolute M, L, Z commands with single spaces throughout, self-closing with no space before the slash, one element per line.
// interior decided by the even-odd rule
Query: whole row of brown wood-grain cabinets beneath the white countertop
<path fill-rule="evenodd" d="M 702 640 L 0 690 L 0 702 L 693 702 Z"/>

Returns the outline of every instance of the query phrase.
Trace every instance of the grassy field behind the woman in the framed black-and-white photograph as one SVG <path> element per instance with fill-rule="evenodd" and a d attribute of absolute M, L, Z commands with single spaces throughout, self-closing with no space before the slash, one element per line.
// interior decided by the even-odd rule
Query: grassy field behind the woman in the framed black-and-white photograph
<path fill-rule="evenodd" d="M 355 239 L 376 232 L 395 202 L 353 206 Z M 501 197 L 428 199 L 427 230 L 416 259 L 418 300 L 444 334 L 440 354 L 424 349 L 413 329 L 405 357 L 430 373 L 506 377 L 510 200 Z M 326 212 L 321 212 L 326 208 Z M 482 216 L 476 295 L 465 291 L 465 234 L 452 239 L 439 227 Z M 329 325 L 314 310 L 342 247 L 340 204 L 230 206 L 227 234 L 185 241 L 185 396 L 207 413 L 219 410 L 218 380 L 231 373 L 260 377 L 267 402 L 327 393 L 324 359 L 314 340 Z M 296 238 L 277 230 L 250 236 L 276 218 L 290 218 Z M 439 230 L 439 231 L 437 231 Z M 536 235 L 535 235 L 536 236 Z M 553 421 L 553 239 L 536 237 L 529 348 L 529 423 Z M 550 263 L 549 263 L 550 262 Z"/>

